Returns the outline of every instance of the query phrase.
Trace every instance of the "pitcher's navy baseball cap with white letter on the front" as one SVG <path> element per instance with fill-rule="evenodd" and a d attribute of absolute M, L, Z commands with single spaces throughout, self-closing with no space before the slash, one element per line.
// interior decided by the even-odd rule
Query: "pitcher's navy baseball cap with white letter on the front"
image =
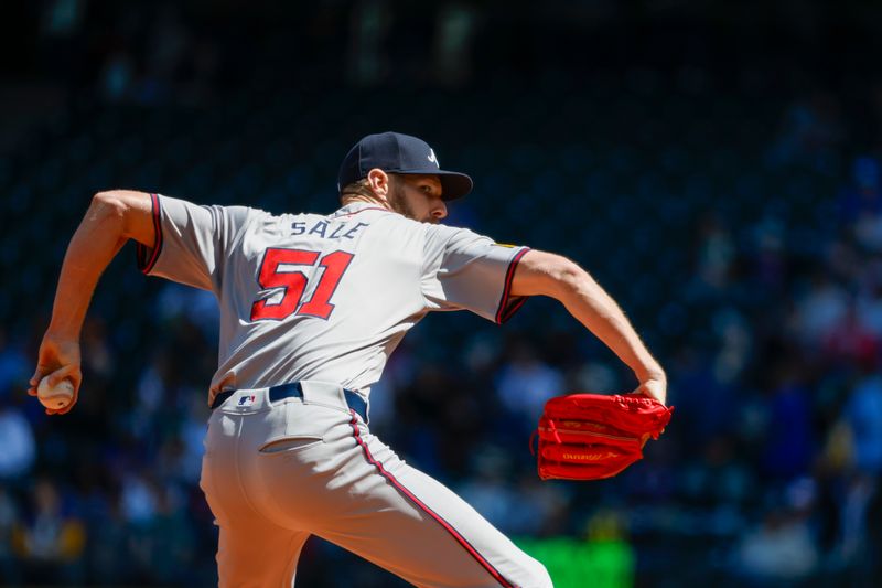
<path fill-rule="evenodd" d="M 337 192 L 367 178 L 374 168 L 388 173 L 438 175 L 443 200 L 455 200 L 472 191 L 472 179 L 464 173 L 442 170 L 434 150 L 422 139 L 400 132 L 381 132 L 368 135 L 346 153 L 337 173 Z"/>

